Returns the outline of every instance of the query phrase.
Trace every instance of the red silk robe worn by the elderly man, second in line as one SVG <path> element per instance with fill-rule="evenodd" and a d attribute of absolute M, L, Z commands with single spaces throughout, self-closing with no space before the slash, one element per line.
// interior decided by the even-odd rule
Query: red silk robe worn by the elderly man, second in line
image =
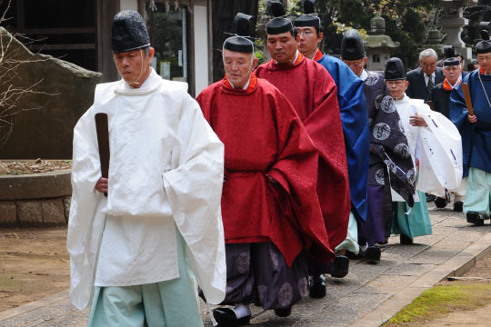
<path fill-rule="evenodd" d="M 246 90 L 225 76 L 196 100 L 225 144 L 225 243 L 273 242 L 289 266 L 304 246 L 332 259 L 316 196 L 318 154 L 286 97 L 252 74 Z"/>

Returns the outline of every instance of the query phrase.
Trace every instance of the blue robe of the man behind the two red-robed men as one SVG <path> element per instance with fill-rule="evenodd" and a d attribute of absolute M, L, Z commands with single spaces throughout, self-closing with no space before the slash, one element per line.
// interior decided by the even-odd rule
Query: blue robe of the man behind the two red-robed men
<path fill-rule="evenodd" d="M 351 208 L 356 218 L 365 222 L 370 134 L 363 81 L 345 63 L 331 55 L 324 54 L 317 63 L 326 68 L 337 86 L 337 102 L 345 134 Z"/>

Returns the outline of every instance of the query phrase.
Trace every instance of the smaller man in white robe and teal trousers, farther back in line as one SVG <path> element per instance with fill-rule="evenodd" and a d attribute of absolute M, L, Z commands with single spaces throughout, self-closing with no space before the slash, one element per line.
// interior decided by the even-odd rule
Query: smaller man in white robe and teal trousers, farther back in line
<path fill-rule="evenodd" d="M 400 233 L 402 244 L 412 244 L 416 236 L 431 234 L 425 192 L 455 189 L 462 179 L 462 144 L 456 127 L 443 114 L 431 111 L 423 100 L 406 95 L 409 84 L 404 64 L 399 58 L 387 61 L 386 84 L 401 118 L 401 130 L 407 138 L 410 155 L 418 167 L 414 205 L 393 193 L 394 219 L 392 232 Z M 390 137 L 390 129 L 378 126 L 377 137 Z M 391 167 L 388 167 L 391 169 Z M 416 178 L 416 172 L 407 173 Z M 423 201 L 420 201 L 423 199 Z"/>

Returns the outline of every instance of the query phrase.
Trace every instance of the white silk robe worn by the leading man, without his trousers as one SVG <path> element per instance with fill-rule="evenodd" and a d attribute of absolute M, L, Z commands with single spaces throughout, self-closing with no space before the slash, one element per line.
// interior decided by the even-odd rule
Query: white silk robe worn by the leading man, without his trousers
<path fill-rule="evenodd" d="M 187 84 L 152 74 L 138 89 L 98 84 L 75 126 L 67 249 L 71 299 L 80 309 L 94 285 L 128 286 L 179 277 L 175 228 L 210 303 L 225 297 L 220 212 L 224 146 Z M 95 114 L 108 115 L 108 196 L 101 177 Z"/>

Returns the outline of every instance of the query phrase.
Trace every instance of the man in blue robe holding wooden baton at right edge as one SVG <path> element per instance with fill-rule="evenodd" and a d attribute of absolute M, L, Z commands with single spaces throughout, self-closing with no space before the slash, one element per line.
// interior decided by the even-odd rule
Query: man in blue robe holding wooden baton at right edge
<path fill-rule="evenodd" d="M 474 114 L 467 110 L 460 84 L 450 95 L 450 120 L 462 136 L 466 200 L 464 213 L 467 223 L 484 224 L 489 219 L 491 191 L 491 40 L 486 30 L 483 41 L 476 45 L 480 69 L 467 74 L 462 84 L 468 84 Z"/>

